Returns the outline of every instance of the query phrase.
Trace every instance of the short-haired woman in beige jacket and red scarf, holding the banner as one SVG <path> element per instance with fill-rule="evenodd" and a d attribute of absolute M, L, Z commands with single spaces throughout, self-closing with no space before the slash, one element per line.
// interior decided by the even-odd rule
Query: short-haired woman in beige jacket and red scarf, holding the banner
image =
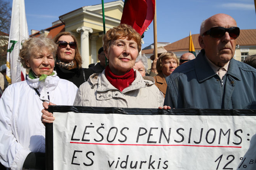
<path fill-rule="evenodd" d="M 141 36 L 130 26 L 121 24 L 106 32 L 104 53 L 109 65 L 102 74 L 92 74 L 76 94 L 75 106 L 159 108 L 164 96 L 154 80 L 143 79 L 133 69 L 141 50 Z M 45 108 L 48 108 L 45 103 Z M 53 115 L 43 110 L 42 122 L 52 123 Z"/>

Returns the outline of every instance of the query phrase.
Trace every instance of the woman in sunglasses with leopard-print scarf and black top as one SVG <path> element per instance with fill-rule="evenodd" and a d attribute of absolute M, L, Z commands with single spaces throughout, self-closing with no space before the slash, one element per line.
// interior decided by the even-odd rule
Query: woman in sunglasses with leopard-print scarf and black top
<path fill-rule="evenodd" d="M 70 32 L 60 32 L 53 41 L 58 44 L 54 70 L 61 79 L 69 80 L 79 87 L 92 73 L 81 67 L 82 58 L 75 36 Z"/>

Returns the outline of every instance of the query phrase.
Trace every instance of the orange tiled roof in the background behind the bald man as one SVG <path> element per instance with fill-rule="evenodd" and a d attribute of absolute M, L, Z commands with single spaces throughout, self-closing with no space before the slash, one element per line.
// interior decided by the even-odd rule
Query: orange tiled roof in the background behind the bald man
<path fill-rule="evenodd" d="M 201 50 L 201 47 L 198 43 L 199 34 L 192 34 L 192 40 L 195 50 Z M 256 46 L 256 29 L 242 29 L 240 30 L 240 35 L 237 38 L 237 45 L 241 46 Z M 188 51 L 189 47 L 189 36 L 182 38 L 176 42 L 170 43 L 169 45 L 164 46 L 167 51 Z M 154 49 L 142 50 L 142 54 L 152 54 Z"/>

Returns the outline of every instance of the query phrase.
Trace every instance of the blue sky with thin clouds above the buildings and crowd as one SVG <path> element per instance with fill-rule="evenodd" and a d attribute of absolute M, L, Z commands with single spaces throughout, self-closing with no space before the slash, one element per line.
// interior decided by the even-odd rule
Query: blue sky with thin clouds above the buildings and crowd
<path fill-rule="evenodd" d="M 28 29 L 48 28 L 58 16 L 100 3 L 101 0 L 25 0 Z M 217 13 L 232 16 L 240 29 L 256 29 L 254 0 L 157 0 L 156 6 L 157 42 L 175 42 L 187 37 L 190 30 L 191 34 L 198 34 L 201 22 Z M 153 22 L 144 35 L 143 48 L 154 42 Z"/>

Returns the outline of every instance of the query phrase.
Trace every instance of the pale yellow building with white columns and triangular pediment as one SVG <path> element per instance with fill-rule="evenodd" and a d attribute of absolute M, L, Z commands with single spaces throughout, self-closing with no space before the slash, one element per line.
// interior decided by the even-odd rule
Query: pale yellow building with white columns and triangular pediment
<path fill-rule="evenodd" d="M 104 3 L 105 30 L 120 24 L 123 13 L 122 0 Z M 97 63 L 97 51 L 102 47 L 104 35 L 102 4 L 83 6 L 77 10 L 59 16 L 59 21 L 53 22 L 52 27 L 31 31 L 31 37 L 41 34 L 53 38 L 59 32 L 68 31 L 75 35 L 82 56 L 82 67 L 87 68 L 91 63 Z"/>

